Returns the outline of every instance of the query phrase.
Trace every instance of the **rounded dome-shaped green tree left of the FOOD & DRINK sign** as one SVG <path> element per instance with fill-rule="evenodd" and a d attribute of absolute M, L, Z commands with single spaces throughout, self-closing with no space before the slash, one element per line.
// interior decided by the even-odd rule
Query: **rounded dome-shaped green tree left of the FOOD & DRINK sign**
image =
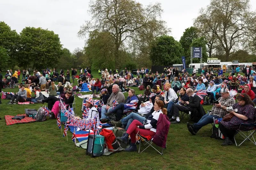
<path fill-rule="evenodd" d="M 152 65 L 180 64 L 184 50 L 180 42 L 172 36 L 162 35 L 158 37 L 150 50 Z"/>

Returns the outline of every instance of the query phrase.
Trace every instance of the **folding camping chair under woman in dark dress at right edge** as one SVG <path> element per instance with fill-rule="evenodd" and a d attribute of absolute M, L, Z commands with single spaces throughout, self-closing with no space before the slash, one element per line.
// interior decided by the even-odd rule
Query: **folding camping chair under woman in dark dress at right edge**
<path fill-rule="evenodd" d="M 241 128 L 242 125 L 247 126 L 247 127 L 251 127 L 252 130 L 248 130 L 248 131 L 241 130 L 240 128 Z M 244 132 L 246 132 L 246 133 L 244 133 Z M 250 133 L 248 133 L 248 132 L 250 132 Z M 249 123 L 249 124 L 241 123 L 239 128 L 236 130 L 236 134 L 234 135 L 235 143 L 236 143 L 236 138 L 235 137 L 236 137 L 237 134 L 239 134 L 240 136 L 242 136 L 244 138 L 244 140 L 238 146 L 243 144 L 246 140 L 251 141 L 253 144 L 256 145 L 255 139 L 253 137 L 255 132 L 256 132 L 256 124 L 255 123 Z M 236 143 L 236 146 L 237 146 L 237 143 Z"/>

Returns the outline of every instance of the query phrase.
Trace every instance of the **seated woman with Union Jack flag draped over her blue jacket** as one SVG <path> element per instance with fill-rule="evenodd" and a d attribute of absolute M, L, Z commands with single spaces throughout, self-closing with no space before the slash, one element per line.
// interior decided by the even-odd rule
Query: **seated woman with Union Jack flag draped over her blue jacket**
<path fill-rule="evenodd" d="M 116 115 L 116 120 L 119 121 L 123 114 L 127 113 L 128 109 L 136 109 L 138 106 L 139 99 L 135 95 L 135 90 L 130 89 L 128 92 L 128 97 L 125 103 L 118 104 L 113 110 L 109 110 L 106 116 Z"/>

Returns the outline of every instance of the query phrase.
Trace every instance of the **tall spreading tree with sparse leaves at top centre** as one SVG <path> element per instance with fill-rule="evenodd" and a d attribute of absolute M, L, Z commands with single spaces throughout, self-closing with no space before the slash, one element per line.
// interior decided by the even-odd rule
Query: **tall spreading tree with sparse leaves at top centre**
<path fill-rule="evenodd" d="M 81 26 L 78 35 L 83 37 L 94 30 L 110 33 L 114 42 L 115 65 L 121 59 L 119 50 L 125 41 L 132 41 L 141 28 L 157 23 L 162 13 L 159 3 L 144 8 L 134 0 L 91 0 L 89 11 L 92 20 Z"/>

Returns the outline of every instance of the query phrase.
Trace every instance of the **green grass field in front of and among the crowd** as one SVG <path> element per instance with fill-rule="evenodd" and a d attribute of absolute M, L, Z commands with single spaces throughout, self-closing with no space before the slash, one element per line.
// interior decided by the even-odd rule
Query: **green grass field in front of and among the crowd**
<path fill-rule="evenodd" d="M 94 77 L 98 77 L 94 72 Z M 136 94 L 142 93 L 134 88 Z M 4 92 L 17 92 L 3 89 Z M 83 93 L 86 94 L 86 93 Z M 89 93 L 88 93 L 89 94 Z M 127 93 L 124 93 L 127 97 Z M 117 152 L 110 156 L 91 158 L 77 148 L 68 132 L 68 141 L 62 137 L 56 120 L 30 122 L 6 126 L 4 115 L 24 114 L 25 108 L 38 109 L 42 104 L 0 105 L 0 169 L 255 169 L 256 147 L 246 141 L 240 147 L 221 146 L 221 140 L 210 138 L 211 125 L 203 127 L 196 136 L 187 129 L 187 120 L 171 124 L 164 155 L 148 148 L 145 152 Z M 76 114 L 82 99 L 76 97 Z M 211 106 L 204 106 L 205 110 Z M 64 126 L 62 126 L 62 131 Z M 255 135 L 254 135 L 255 136 Z M 238 138 L 239 141 L 242 138 Z"/>

